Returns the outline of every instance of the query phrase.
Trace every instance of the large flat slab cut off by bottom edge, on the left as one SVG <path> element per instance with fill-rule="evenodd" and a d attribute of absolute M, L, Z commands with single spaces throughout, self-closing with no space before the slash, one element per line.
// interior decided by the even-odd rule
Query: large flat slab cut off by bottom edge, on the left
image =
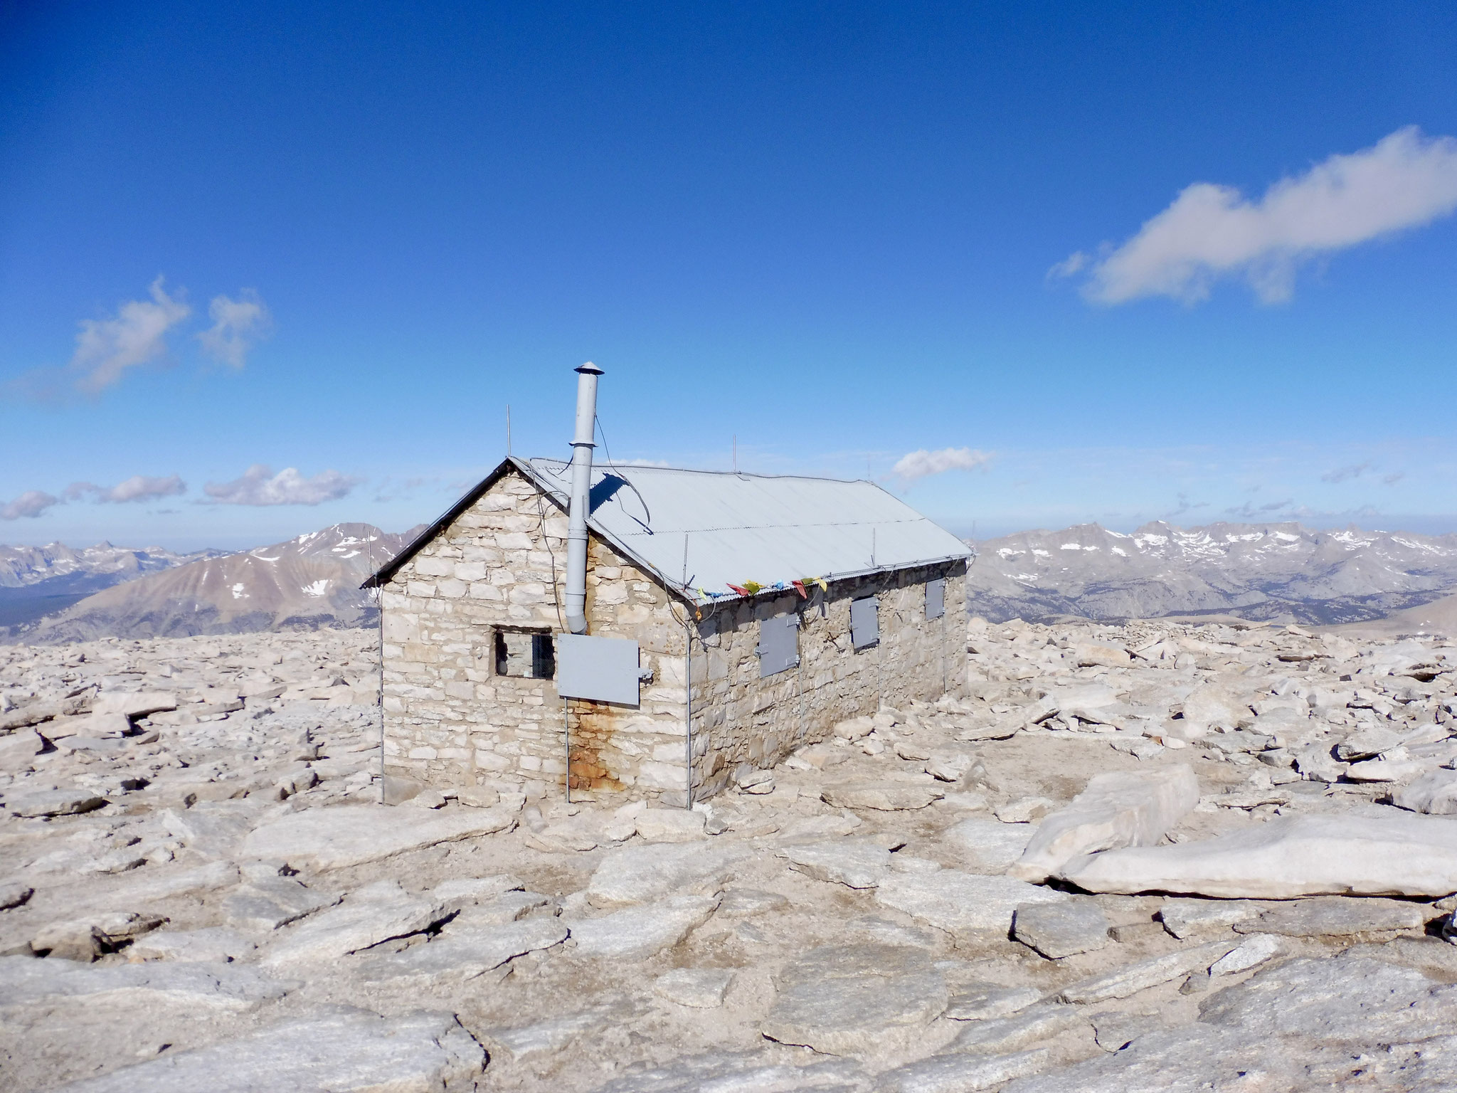
<path fill-rule="evenodd" d="M 363 1010 L 284 1022 L 249 1036 L 162 1055 L 66 1093 L 434 1093 L 471 1089 L 485 1051 L 449 1013 Z"/>

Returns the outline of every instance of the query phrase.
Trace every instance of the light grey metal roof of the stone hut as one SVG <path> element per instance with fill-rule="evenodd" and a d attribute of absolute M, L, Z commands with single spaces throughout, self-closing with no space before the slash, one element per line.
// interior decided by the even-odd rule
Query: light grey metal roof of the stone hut
<path fill-rule="evenodd" d="M 567 506 L 568 463 L 511 462 Z M 589 526 L 696 602 L 733 596 L 730 583 L 772 587 L 970 557 L 874 482 L 835 478 L 597 465 Z"/>

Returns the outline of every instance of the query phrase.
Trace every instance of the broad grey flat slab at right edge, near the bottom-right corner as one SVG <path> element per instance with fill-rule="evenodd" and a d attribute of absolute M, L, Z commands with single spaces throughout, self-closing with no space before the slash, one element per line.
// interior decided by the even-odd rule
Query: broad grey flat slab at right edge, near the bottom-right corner
<path fill-rule="evenodd" d="M 1206 998 L 1199 1020 L 1256 1038 L 1402 1043 L 1457 1033 L 1457 987 L 1368 957 L 1289 960 Z"/>

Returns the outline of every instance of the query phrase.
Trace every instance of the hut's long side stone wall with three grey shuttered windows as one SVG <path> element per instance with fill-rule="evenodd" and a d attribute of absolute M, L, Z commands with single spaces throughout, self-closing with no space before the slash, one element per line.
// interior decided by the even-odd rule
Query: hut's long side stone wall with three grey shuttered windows
<path fill-rule="evenodd" d="M 946 611 L 925 618 L 925 581 L 946 577 Z M 880 641 L 851 646 L 849 603 L 876 595 Z M 800 665 L 759 678 L 759 624 L 800 615 Z M 934 701 L 965 686 L 966 564 L 835 581 L 829 595 L 736 600 L 704 609 L 692 657 L 695 797 L 721 790 L 743 765 L 769 768 L 829 736 L 836 721 Z"/>

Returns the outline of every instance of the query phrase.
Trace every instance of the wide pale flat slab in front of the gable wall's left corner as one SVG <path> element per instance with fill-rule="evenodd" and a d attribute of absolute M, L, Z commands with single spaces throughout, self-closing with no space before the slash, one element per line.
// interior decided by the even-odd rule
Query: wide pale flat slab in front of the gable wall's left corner
<path fill-rule="evenodd" d="M 507 809 L 396 809 L 386 804 L 337 804 L 305 809 L 265 823 L 243 839 L 243 854 L 316 869 L 379 861 L 440 842 L 492 835 L 516 825 Z"/>

